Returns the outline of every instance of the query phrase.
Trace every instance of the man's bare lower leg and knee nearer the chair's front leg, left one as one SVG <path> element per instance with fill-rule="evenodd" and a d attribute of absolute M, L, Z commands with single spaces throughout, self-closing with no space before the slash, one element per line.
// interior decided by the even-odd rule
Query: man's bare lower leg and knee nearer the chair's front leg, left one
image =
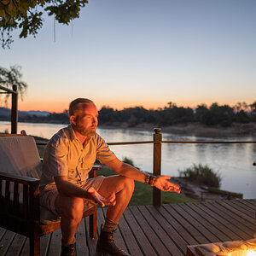
<path fill-rule="evenodd" d="M 74 243 L 74 235 L 83 218 L 84 200 L 77 197 L 58 195 L 55 200 L 55 211 L 61 216 L 62 245 Z"/>

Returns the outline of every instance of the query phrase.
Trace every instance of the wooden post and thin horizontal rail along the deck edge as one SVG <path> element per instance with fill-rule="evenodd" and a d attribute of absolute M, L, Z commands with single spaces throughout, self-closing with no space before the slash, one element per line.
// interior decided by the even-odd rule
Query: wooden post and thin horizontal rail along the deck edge
<path fill-rule="evenodd" d="M 255 141 L 163 141 L 160 128 L 154 128 L 153 140 L 143 142 L 122 142 L 122 143 L 108 143 L 109 146 L 117 145 L 132 145 L 132 144 L 154 144 L 153 149 L 153 174 L 155 176 L 161 175 L 161 145 L 162 143 L 172 144 L 241 144 L 241 143 L 256 143 Z M 37 143 L 38 145 L 45 145 L 46 143 Z M 256 161 L 253 163 L 256 166 Z M 153 205 L 160 207 L 161 193 L 160 189 L 153 188 Z"/>

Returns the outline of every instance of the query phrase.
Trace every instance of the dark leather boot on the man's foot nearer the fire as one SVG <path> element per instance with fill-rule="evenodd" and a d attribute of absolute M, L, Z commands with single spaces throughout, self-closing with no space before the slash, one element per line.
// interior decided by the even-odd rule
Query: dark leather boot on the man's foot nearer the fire
<path fill-rule="evenodd" d="M 97 255 L 107 255 L 108 253 L 112 256 L 131 256 L 115 245 L 113 232 L 105 232 L 103 230 L 101 230 L 101 235 L 97 242 L 96 253 Z"/>

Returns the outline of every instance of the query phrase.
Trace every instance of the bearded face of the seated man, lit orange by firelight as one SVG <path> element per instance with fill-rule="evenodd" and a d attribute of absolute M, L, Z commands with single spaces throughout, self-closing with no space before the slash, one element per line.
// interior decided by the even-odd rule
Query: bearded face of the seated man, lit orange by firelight
<path fill-rule="evenodd" d="M 98 111 L 93 103 L 85 105 L 79 115 L 75 117 L 73 127 L 84 137 L 92 137 L 96 133 L 98 125 Z"/>

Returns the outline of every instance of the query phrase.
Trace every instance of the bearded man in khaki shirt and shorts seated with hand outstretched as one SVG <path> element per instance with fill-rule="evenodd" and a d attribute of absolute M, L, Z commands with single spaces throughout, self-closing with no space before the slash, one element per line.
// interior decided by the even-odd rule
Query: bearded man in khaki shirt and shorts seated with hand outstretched
<path fill-rule="evenodd" d="M 69 105 L 71 125 L 58 131 L 47 144 L 40 182 L 40 204 L 61 218 L 61 255 L 76 255 L 75 232 L 89 201 L 108 205 L 105 224 L 99 236 L 98 254 L 129 255 L 117 247 L 113 232 L 131 200 L 134 180 L 179 193 L 171 177 L 154 177 L 120 161 L 96 133 L 98 112 L 94 102 L 78 98 Z M 95 160 L 118 175 L 88 179 Z"/>

